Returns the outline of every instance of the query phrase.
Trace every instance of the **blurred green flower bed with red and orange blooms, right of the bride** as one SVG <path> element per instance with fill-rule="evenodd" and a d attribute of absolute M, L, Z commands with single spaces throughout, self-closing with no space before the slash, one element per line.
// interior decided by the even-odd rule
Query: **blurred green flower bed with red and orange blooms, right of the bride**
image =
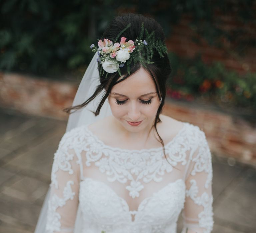
<path fill-rule="evenodd" d="M 256 73 L 239 75 L 220 62 L 206 65 L 201 56 L 195 59 L 168 54 L 172 74 L 168 95 L 176 99 L 202 98 L 216 104 L 256 107 Z"/>

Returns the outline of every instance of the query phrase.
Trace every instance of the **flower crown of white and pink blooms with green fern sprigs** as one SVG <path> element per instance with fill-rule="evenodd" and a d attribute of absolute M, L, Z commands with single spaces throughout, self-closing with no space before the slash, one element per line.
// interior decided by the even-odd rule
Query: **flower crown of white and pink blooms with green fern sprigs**
<path fill-rule="evenodd" d="M 116 37 L 115 41 L 120 37 L 120 35 L 129 28 L 131 23 L 129 23 Z M 155 40 L 155 32 L 148 33 L 145 29 L 145 40 L 142 41 L 144 32 L 144 22 L 141 23 L 141 31 L 139 37 L 134 41 L 129 40 L 126 42 L 125 37 L 121 37 L 120 43 L 113 42 L 109 39 L 104 38 L 104 41 L 98 40 L 97 48 L 94 44 L 90 46 L 92 52 L 98 53 L 98 67 L 100 76 L 106 72 L 105 78 L 107 78 L 108 73 L 114 73 L 118 71 L 118 74 L 121 76 L 120 67 L 126 65 L 127 72 L 130 74 L 130 64 L 133 61 L 140 62 L 144 67 L 146 64 L 152 64 L 150 59 L 153 56 L 153 48 L 159 53 L 160 57 L 164 57 L 164 53 L 167 53 L 166 45 L 159 38 Z M 146 54 L 143 47 L 146 48 Z M 146 56 L 145 56 L 146 55 Z M 147 57 L 147 58 L 145 58 Z"/>

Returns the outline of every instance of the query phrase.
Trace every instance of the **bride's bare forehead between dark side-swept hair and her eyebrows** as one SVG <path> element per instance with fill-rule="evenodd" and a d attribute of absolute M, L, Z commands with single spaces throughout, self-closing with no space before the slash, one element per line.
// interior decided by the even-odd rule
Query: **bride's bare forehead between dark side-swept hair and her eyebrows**
<path fill-rule="evenodd" d="M 114 85 L 111 93 L 114 92 L 126 96 L 141 96 L 149 92 L 156 92 L 156 87 L 151 75 L 141 67 L 136 73 Z"/>

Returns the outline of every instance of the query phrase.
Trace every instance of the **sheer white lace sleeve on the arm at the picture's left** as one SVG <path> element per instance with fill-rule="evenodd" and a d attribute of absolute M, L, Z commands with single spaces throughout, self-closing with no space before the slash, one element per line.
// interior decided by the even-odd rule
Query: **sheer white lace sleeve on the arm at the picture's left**
<path fill-rule="evenodd" d="M 78 208 L 79 181 L 79 159 L 72 148 L 69 135 L 64 134 L 52 165 L 47 233 L 73 232 Z"/>

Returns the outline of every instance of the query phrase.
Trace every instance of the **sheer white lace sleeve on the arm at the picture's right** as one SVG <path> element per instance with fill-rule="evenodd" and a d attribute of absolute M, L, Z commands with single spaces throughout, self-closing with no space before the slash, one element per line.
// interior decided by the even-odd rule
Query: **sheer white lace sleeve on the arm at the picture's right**
<path fill-rule="evenodd" d="M 213 228 L 212 160 L 205 133 L 198 128 L 195 152 L 186 172 L 182 233 L 210 233 Z"/>

